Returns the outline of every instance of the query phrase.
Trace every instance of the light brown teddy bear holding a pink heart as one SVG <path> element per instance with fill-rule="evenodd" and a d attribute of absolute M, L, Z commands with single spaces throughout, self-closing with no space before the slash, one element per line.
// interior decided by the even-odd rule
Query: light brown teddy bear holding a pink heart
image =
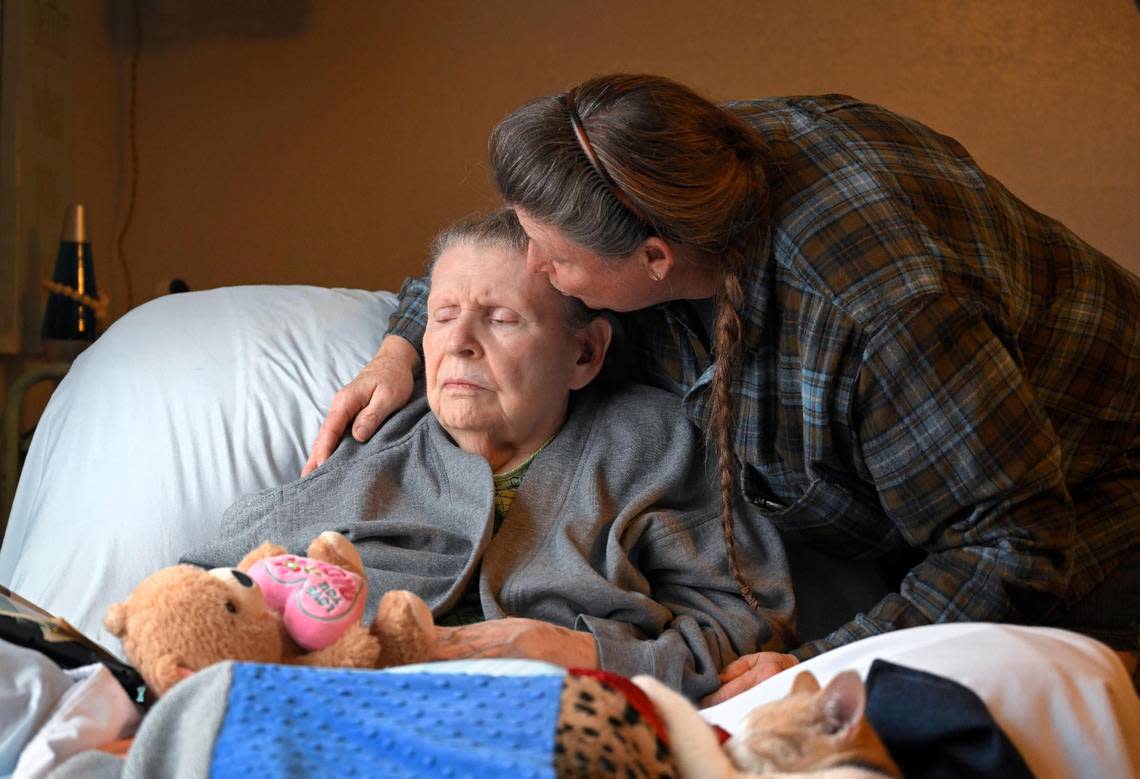
<path fill-rule="evenodd" d="M 306 557 L 267 542 L 235 568 L 163 568 L 112 604 L 104 624 L 156 696 L 220 660 L 378 668 L 429 659 L 433 624 L 421 598 L 385 593 L 367 627 L 366 599 L 356 547 L 324 533 Z"/>

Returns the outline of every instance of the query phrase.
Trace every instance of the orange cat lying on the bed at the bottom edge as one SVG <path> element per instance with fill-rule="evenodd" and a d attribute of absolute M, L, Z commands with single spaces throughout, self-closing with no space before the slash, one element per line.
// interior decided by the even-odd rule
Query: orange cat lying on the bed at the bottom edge
<path fill-rule="evenodd" d="M 723 746 L 686 698 L 650 676 L 634 683 L 665 722 L 681 779 L 902 776 L 864 716 L 866 691 L 854 671 L 822 690 L 809 672 L 800 673 L 788 697 L 752 709 Z"/>

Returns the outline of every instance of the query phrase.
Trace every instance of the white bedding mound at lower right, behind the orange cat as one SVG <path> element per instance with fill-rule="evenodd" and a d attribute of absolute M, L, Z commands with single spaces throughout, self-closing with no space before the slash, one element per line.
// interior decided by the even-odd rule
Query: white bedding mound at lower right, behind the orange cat
<path fill-rule="evenodd" d="M 930 625 L 840 647 L 701 714 L 733 732 L 748 712 L 788 695 L 811 671 L 826 684 L 872 660 L 952 679 L 988 706 L 1039 779 L 1140 777 L 1140 700 L 1108 647 L 1067 631 L 982 623 Z"/>

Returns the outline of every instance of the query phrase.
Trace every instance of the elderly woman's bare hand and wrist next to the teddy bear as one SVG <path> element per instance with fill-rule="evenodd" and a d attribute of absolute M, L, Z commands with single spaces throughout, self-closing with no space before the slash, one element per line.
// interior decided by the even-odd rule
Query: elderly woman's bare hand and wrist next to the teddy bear
<path fill-rule="evenodd" d="M 434 660 L 523 657 L 567 668 L 596 668 L 594 636 L 538 619 L 505 617 L 459 627 L 435 627 Z"/>

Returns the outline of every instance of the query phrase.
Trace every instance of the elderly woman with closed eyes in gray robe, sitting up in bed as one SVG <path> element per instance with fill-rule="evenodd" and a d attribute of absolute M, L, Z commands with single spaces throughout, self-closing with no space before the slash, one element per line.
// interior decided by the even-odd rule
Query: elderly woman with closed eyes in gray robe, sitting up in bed
<path fill-rule="evenodd" d="M 345 439 L 310 476 L 236 503 L 222 539 L 186 559 L 231 565 L 266 539 L 303 551 L 335 529 L 374 599 L 427 601 L 440 659 L 528 657 L 711 692 L 726 663 L 789 635 L 779 536 L 736 524 L 757 610 L 725 561 L 695 428 L 665 392 L 587 388 L 610 325 L 526 273 L 526 242 L 511 211 L 441 235 L 426 392 L 367 444 Z"/>

